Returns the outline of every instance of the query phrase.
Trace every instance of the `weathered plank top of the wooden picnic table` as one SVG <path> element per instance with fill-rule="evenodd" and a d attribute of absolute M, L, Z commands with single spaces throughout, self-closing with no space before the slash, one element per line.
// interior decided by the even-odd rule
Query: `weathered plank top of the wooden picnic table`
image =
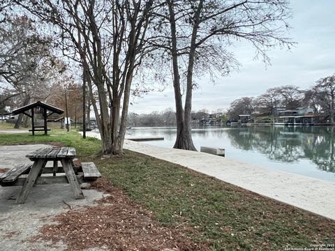
<path fill-rule="evenodd" d="M 76 156 L 75 148 L 74 147 L 43 147 L 32 151 L 31 153 L 27 154 L 26 157 L 34 160 L 34 159 L 60 159 L 60 158 L 70 158 L 73 159 Z"/>

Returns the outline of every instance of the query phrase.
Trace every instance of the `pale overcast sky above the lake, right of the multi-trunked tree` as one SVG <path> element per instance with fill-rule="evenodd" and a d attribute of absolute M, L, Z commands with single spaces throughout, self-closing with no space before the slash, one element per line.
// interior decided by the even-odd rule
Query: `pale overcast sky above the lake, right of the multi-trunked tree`
<path fill-rule="evenodd" d="M 228 109 L 230 102 L 246 96 L 258 96 L 267 89 L 292 84 L 308 89 L 321 77 L 335 73 L 335 1 L 291 0 L 293 18 L 288 36 L 297 45 L 292 50 L 269 52 L 271 66 L 253 60 L 251 45 L 236 47 L 234 54 L 241 66 L 216 83 L 203 78 L 193 92 L 193 111 Z M 150 113 L 174 109 L 172 85 L 161 92 L 151 92 L 132 100 L 130 112 Z"/>

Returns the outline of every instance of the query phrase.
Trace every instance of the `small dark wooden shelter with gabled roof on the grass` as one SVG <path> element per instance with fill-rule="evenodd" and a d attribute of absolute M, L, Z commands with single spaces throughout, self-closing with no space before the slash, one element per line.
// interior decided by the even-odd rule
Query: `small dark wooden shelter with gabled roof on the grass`
<path fill-rule="evenodd" d="M 64 111 L 54 107 L 53 105 L 46 104 L 45 102 L 37 101 L 30 105 L 15 109 L 12 112 L 12 114 L 15 115 L 20 113 L 25 114 L 31 118 L 31 130 L 29 131 L 32 132 L 33 135 L 35 135 L 35 132 L 37 131 L 44 131 L 44 134 L 47 135 L 47 131 L 50 130 L 47 128 L 47 117 L 54 113 L 62 114 Z M 43 114 L 43 126 L 35 126 L 34 116 L 36 116 L 36 114 Z"/>

